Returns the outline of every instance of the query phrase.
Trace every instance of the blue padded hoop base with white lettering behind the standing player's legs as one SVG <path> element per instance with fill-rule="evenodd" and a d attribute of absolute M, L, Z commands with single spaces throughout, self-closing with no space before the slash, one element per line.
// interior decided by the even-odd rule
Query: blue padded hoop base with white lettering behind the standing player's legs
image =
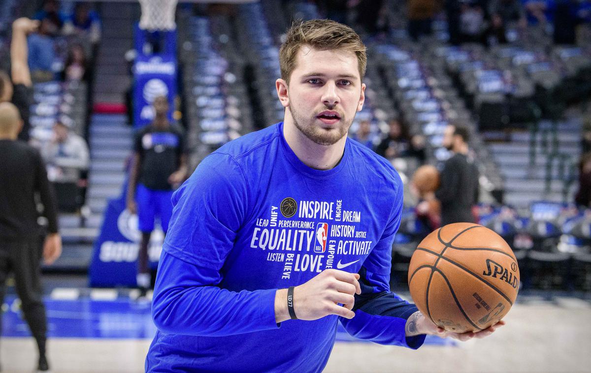
<path fill-rule="evenodd" d="M 125 208 L 126 183 L 120 197 L 111 199 L 105 210 L 100 235 L 95 241 L 89 269 L 91 287 L 136 286 L 141 233 L 138 217 Z M 158 224 L 152 232 L 148 257 L 152 269 L 158 266 L 164 239 Z"/>

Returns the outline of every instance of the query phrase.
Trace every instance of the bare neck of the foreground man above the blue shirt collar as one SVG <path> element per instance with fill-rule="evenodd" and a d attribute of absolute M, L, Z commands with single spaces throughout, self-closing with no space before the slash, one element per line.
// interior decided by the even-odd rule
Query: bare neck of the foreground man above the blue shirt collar
<path fill-rule="evenodd" d="M 334 168 L 340 162 L 347 140 L 345 135 L 333 145 L 319 145 L 313 142 L 297 129 L 289 110 L 285 110 L 283 136 L 287 145 L 304 165 L 320 170 Z"/>

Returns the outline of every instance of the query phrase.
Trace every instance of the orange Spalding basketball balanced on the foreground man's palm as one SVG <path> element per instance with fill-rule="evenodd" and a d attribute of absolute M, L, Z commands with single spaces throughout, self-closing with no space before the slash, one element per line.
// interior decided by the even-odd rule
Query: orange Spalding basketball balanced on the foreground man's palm
<path fill-rule="evenodd" d="M 478 332 L 515 303 L 519 267 L 509 245 L 473 223 L 449 224 L 418 245 L 408 268 L 418 309 L 447 331 Z"/>

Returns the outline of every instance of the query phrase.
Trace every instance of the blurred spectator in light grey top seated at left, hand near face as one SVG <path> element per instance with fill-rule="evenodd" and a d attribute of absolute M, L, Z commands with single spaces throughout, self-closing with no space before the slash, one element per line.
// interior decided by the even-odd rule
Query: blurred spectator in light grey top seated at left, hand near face
<path fill-rule="evenodd" d="M 47 163 L 50 181 L 77 182 L 89 166 L 86 141 L 59 121 L 53 126 L 53 138 L 43 146 L 41 155 Z"/>

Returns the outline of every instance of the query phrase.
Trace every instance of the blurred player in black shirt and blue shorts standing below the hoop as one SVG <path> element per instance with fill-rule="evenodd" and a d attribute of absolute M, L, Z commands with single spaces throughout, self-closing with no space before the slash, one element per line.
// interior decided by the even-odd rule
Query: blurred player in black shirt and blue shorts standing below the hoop
<path fill-rule="evenodd" d="M 166 97 L 156 97 L 153 106 L 154 122 L 135 135 L 134 159 L 127 192 L 127 209 L 132 214 L 137 212 L 138 228 L 142 233 L 137 274 L 141 296 L 145 296 L 151 282 L 148 244 L 154 230 L 154 218 L 157 215 L 160 217 L 160 225 L 166 234 L 173 214 L 170 200 L 173 188 L 187 176 L 183 130 L 168 122 Z"/>

